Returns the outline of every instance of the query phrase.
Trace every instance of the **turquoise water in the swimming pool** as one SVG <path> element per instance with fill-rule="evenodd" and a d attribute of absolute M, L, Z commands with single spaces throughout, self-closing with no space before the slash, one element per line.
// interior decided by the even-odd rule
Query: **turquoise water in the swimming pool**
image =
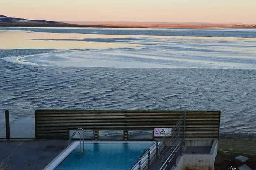
<path fill-rule="evenodd" d="M 84 144 L 84 154 L 78 146 L 56 170 L 128 170 L 151 145 Z"/>

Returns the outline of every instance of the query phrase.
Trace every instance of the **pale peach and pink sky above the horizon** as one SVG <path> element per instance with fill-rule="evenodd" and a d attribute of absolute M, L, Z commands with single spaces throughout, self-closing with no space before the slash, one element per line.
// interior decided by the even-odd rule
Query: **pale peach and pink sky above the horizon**
<path fill-rule="evenodd" d="M 0 0 L 0 14 L 52 21 L 256 24 L 256 0 Z"/>

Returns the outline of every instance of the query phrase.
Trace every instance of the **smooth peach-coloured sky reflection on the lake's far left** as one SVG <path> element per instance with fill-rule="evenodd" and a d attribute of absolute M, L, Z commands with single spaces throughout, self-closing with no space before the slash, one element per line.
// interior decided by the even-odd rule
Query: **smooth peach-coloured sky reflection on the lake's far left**
<path fill-rule="evenodd" d="M 128 38 L 124 35 L 57 34 L 30 31 L 0 31 L 0 49 L 99 49 L 134 47 L 138 44 L 86 42 L 84 38 Z M 76 40 L 76 41 L 70 41 Z M 79 41 L 80 40 L 80 41 Z"/>

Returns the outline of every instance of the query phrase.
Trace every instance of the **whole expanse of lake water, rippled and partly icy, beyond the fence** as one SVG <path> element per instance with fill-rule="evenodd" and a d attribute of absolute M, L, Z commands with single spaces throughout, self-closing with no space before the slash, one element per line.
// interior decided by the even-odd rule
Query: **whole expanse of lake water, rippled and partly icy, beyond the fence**
<path fill-rule="evenodd" d="M 0 28 L 1 37 L 0 137 L 5 109 L 11 136 L 33 137 L 37 108 L 220 110 L 222 132 L 256 133 L 255 30 Z"/>

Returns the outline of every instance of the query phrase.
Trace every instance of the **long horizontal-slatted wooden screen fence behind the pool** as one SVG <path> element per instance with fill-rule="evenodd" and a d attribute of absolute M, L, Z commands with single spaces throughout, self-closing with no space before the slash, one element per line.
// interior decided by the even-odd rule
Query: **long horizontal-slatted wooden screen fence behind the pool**
<path fill-rule="evenodd" d="M 69 129 L 94 130 L 153 130 L 155 127 L 173 128 L 184 111 L 175 110 L 36 110 L 37 139 L 68 139 Z M 186 111 L 186 140 L 217 140 L 220 111 Z M 155 139 L 161 139 L 155 136 Z"/>

